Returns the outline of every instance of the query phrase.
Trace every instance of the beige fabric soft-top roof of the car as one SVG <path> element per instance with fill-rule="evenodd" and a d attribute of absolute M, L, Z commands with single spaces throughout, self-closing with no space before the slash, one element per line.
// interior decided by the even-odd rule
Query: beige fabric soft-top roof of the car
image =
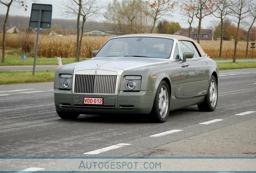
<path fill-rule="evenodd" d="M 176 38 L 177 40 L 183 40 L 183 41 L 190 41 L 192 42 L 197 50 L 200 52 L 201 56 L 206 56 L 206 53 L 204 52 L 204 50 L 202 50 L 200 44 L 198 44 L 198 42 L 195 42 L 192 38 L 188 38 L 185 36 L 179 36 L 179 35 L 171 35 L 171 34 L 127 34 L 127 35 L 122 35 L 122 36 L 118 36 L 118 37 L 125 37 L 125 36 L 162 36 L 162 37 L 169 37 L 169 38 Z"/>

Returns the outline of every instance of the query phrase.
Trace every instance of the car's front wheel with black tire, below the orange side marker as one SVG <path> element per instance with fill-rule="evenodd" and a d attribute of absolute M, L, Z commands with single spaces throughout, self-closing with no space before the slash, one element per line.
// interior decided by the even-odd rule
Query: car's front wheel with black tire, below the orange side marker
<path fill-rule="evenodd" d="M 160 82 L 155 96 L 150 120 L 155 123 L 163 123 L 169 116 L 170 91 L 168 84 L 163 80 Z"/>

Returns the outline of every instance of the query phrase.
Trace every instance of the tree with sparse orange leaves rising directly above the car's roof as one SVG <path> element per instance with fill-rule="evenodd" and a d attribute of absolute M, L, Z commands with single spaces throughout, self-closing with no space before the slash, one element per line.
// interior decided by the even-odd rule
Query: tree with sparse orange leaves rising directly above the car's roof
<path fill-rule="evenodd" d="M 176 1 L 175 0 L 146 0 L 146 6 L 148 7 L 145 10 L 147 16 L 153 19 L 153 26 L 150 30 L 150 33 L 153 32 L 155 28 L 156 21 L 167 14 L 171 14 Z"/>

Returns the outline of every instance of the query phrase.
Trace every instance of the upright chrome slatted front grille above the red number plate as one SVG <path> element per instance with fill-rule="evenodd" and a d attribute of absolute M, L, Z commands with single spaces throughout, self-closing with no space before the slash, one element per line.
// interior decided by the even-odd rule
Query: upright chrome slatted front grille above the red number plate
<path fill-rule="evenodd" d="M 76 74 L 74 93 L 115 94 L 116 75 Z"/>

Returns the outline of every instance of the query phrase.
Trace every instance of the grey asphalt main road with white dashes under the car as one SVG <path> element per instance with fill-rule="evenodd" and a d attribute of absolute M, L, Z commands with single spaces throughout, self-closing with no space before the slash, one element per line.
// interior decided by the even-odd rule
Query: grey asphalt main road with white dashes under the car
<path fill-rule="evenodd" d="M 244 115 L 236 115 L 239 113 Z M 161 124 L 130 115 L 80 115 L 76 120 L 63 120 L 55 111 L 53 82 L 0 85 L 0 157 L 144 156 L 160 152 L 156 147 L 166 149 L 167 145 L 172 152 L 163 155 L 173 156 L 179 155 L 179 147 L 186 146 L 179 141 L 193 140 L 194 145 L 200 145 L 204 137 L 212 144 L 218 143 L 214 146 L 220 151 L 222 145 L 232 142 L 218 138 L 228 129 L 238 129 L 236 135 L 244 138 L 237 141 L 240 147 L 249 141 L 246 146 L 250 151 L 234 155 L 255 157 L 255 119 L 256 68 L 220 71 L 219 101 L 214 112 L 200 112 L 192 106 L 171 111 L 167 122 Z M 207 121 L 210 124 L 199 124 Z M 239 131 L 247 125 L 249 130 Z M 159 135 L 166 131 L 169 134 Z"/>

